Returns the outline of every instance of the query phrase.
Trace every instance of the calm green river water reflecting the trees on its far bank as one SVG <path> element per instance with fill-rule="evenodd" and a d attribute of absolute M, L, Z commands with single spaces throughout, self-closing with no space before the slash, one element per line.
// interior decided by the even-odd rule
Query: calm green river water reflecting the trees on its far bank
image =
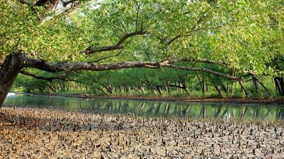
<path fill-rule="evenodd" d="M 206 104 L 153 102 L 127 99 L 85 99 L 9 94 L 5 104 L 68 109 L 94 114 L 137 114 L 142 116 L 184 116 L 189 118 L 283 120 L 284 106 L 259 104 Z"/>

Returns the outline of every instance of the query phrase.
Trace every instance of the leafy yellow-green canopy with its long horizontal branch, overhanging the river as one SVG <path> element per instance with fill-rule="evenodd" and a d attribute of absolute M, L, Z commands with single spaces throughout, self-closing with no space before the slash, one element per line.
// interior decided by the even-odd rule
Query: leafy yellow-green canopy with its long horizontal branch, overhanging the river
<path fill-rule="evenodd" d="M 26 67 L 48 72 L 172 67 L 233 80 L 245 75 L 283 77 L 284 1 L 0 4 L 2 72 L 9 55 L 20 55 L 17 73 Z M 214 64 L 225 72 L 195 63 Z"/>

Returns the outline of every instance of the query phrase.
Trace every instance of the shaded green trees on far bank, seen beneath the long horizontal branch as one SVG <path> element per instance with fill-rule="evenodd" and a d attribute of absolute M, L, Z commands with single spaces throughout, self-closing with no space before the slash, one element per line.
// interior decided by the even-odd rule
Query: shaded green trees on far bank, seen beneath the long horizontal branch
<path fill-rule="evenodd" d="M 221 72 L 222 70 L 218 71 Z M 41 74 L 42 72 L 37 73 Z M 44 76 L 48 77 L 48 75 Z M 161 70 L 136 68 L 73 73 L 68 75 L 65 81 L 55 79 L 53 82 L 20 75 L 13 90 L 15 92 L 43 94 L 174 97 L 276 97 L 279 95 L 271 77 L 261 77 L 256 81 L 253 81 L 251 77 L 246 77 L 246 80 L 248 82 L 244 82 L 243 86 L 247 94 L 243 92 L 238 82 L 206 73 L 178 71 L 168 68 Z M 256 82 L 257 87 L 254 87 L 254 82 Z M 232 83 L 234 84 L 233 87 Z M 265 89 L 268 89 L 268 92 Z"/>

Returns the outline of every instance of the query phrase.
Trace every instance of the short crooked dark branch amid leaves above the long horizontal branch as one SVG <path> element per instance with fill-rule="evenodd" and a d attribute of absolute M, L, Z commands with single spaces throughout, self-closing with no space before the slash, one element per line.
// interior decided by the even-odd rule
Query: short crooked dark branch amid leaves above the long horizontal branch
<path fill-rule="evenodd" d="M 90 55 L 90 54 L 98 53 L 102 51 L 120 50 L 124 48 L 123 43 L 125 42 L 125 40 L 127 40 L 127 38 L 130 38 L 135 35 L 144 35 L 145 33 L 146 31 L 135 31 L 132 33 L 127 33 L 124 36 L 122 36 L 122 38 L 120 38 L 118 43 L 115 45 L 108 45 L 108 46 L 104 46 L 100 48 L 88 47 L 87 49 L 80 51 L 80 53 L 85 53 L 86 55 Z"/>

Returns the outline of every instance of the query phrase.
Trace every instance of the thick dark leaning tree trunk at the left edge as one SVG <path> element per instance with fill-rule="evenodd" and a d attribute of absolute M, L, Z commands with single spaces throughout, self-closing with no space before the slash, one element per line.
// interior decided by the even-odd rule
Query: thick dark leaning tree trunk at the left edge
<path fill-rule="evenodd" d="M 22 61 L 23 58 L 21 54 L 11 54 L 6 57 L 3 65 L 0 67 L 0 107 L 4 103 L 16 77 L 23 68 Z"/>

